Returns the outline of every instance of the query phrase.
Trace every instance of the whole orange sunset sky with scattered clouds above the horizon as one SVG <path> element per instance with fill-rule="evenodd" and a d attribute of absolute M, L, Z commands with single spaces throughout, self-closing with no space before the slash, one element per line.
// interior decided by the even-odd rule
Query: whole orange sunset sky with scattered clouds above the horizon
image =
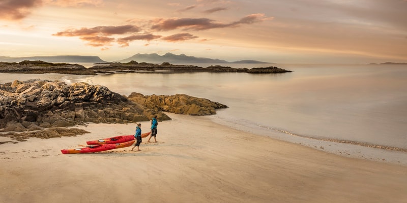
<path fill-rule="evenodd" d="M 407 62 L 407 0 L 0 0 L 0 56 Z"/>

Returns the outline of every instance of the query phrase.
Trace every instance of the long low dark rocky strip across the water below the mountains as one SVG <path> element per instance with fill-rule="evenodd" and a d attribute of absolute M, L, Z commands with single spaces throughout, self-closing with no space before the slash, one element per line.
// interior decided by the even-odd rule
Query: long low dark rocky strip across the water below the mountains
<path fill-rule="evenodd" d="M 50 63 L 41 60 L 21 62 L 0 62 L 0 73 L 22 73 L 22 74 L 43 74 L 43 73 L 59 73 L 59 74 L 75 74 L 75 75 L 96 75 L 96 74 L 114 74 L 114 73 L 190 73 L 190 72 L 210 72 L 210 73 L 250 73 L 250 74 L 277 74 L 289 73 L 275 66 L 270 67 L 253 67 L 234 68 L 229 66 L 211 65 L 208 67 L 200 67 L 196 65 L 173 65 L 168 62 L 162 64 L 153 64 L 137 61 L 127 63 L 121 62 L 106 62 L 103 64 L 95 64 L 92 67 L 86 68 L 79 64 L 70 63 Z"/>

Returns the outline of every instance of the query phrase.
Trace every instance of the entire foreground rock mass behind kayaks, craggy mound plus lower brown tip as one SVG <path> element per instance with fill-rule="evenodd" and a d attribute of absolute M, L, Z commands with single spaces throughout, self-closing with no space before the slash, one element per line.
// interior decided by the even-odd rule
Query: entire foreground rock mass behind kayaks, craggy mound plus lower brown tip
<path fill-rule="evenodd" d="M 49 134 L 54 133 L 49 132 L 52 127 L 88 122 L 149 121 L 153 115 L 157 115 L 159 121 L 171 120 L 161 111 L 211 115 L 220 108 L 227 106 L 185 94 L 144 96 L 132 93 L 127 97 L 111 92 L 105 86 L 86 83 L 67 85 L 60 81 L 34 79 L 0 84 L 0 132 L 48 130 L 42 133 Z"/>

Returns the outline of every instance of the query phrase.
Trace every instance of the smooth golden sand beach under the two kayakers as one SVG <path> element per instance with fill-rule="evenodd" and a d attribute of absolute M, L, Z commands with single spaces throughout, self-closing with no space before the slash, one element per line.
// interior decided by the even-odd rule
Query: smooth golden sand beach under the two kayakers
<path fill-rule="evenodd" d="M 135 124 L 0 145 L 0 202 L 407 202 L 407 166 L 329 154 L 208 117 L 169 116 L 159 122 L 159 142 L 143 139 L 142 151 L 60 151 L 132 134 Z"/>

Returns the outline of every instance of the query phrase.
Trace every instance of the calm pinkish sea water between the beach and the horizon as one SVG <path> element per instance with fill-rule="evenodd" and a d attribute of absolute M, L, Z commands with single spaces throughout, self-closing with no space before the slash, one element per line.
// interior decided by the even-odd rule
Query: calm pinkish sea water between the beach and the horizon
<path fill-rule="evenodd" d="M 240 130 L 330 149 L 334 153 L 347 146 L 381 148 L 366 153 L 381 155 L 392 151 L 396 154 L 384 157 L 388 160 L 393 157 L 396 162 L 407 160 L 407 65 L 227 65 L 278 66 L 293 73 L 124 73 L 91 77 L 42 74 L 30 77 L 61 77 L 68 83 L 99 84 L 124 95 L 183 93 L 208 98 L 229 107 L 211 119 Z M 16 78 L 0 77 L 0 83 L 13 77 Z M 363 154 L 363 150 L 357 153 Z"/>

